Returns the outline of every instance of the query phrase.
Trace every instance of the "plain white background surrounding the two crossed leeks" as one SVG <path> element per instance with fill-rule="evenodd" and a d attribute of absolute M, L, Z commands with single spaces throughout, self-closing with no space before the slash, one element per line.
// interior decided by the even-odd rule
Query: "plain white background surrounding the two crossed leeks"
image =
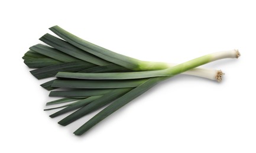
<path fill-rule="evenodd" d="M 256 152 L 254 1 L 1 1 L 0 152 Z M 51 26 L 120 54 L 184 62 L 239 49 L 205 65 L 221 83 L 179 75 L 82 137 L 88 117 L 61 127 L 44 112 L 48 91 L 21 59 Z"/>

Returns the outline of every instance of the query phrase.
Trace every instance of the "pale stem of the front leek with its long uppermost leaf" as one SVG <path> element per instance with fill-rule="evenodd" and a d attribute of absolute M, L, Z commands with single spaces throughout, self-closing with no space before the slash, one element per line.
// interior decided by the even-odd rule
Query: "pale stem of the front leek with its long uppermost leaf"
<path fill-rule="evenodd" d="M 141 71 L 141 72 L 112 72 L 112 73 L 72 73 L 59 72 L 56 77 L 60 78 L 76 78 L 76 79 L 139 79 L 152 77 L 171 77 L 181 74 L 189 69 L 206 64 L 208 62 L 216 61 L 222 58 L 238 58 L 239 52 L 236 50 L 216 52 L 213 54 L 201 56 L 191 61 L 184 62 L 167 69 L 157 71 Z"/>

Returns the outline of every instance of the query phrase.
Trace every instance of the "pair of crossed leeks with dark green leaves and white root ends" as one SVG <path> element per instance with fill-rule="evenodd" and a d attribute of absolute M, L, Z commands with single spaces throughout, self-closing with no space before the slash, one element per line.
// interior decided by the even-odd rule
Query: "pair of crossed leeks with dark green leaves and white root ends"
<path fill-rule="evenodd" d="M 58 122 L 65 126 L 108 105 L 74 131 L 75 135 L 82 135 L 154 85 L 174 75 L 183 73 L 221 81 L 222 71 L 197 67 L 240 56 L 234 49 L 201 56 L 183 64 L 141 61 L 80 39 L 59 26 L 50 30 L 61 39 L 43 35 L 40 40 L 47 45 L 31 46 L 22 58 L 29 68 L 34 68 L 30 72 L 35 78 L 56 77 L 41 84 L 50 91 L 50 97 L 61 97 L 46 105 L 72 103 L 44 110 L 63 108 L 50 115 L 54 118 L 77 109 Z"/>

